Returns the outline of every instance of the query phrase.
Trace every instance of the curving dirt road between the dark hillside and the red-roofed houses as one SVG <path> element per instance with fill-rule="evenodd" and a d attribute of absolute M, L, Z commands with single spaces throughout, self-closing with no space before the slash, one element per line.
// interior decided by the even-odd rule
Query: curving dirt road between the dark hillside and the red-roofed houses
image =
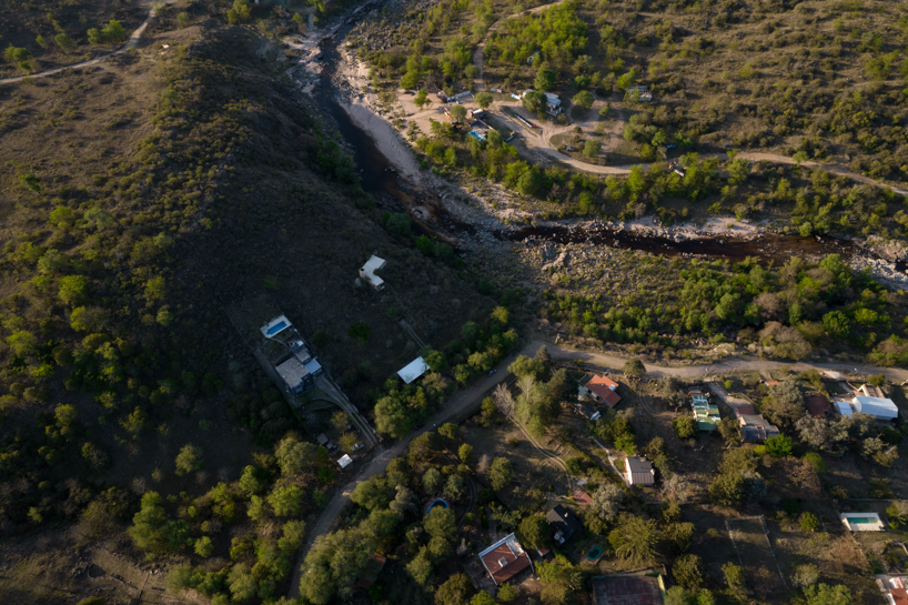
<path fill-rule="evenodd" d="M 350 493 L 354 487 L 356 487 L 356 484 L 373 475 L 384 473 L 385 468 L 387 467 L 387 463 L 393 458 L 403 455 L 413 437 L 422 435 L 426 431 L 432 431 L 445 422 L 462 422 L 465 417 L 472 414 L 474 410 L 478 409 L 485 393 L 490 392 L 498 382 L 502 382 L 508 377 L 507 366 L 511 365 L 515 359 L 517 359 L 517 355 L 534 355 L 539 346 L 543 345 L 548 349 L 548 353 L 552 355 L 553 360 L 583 360 L 587 364 L 609 369 L 621 369 L 624 365 L 624 362 L 627 361 L 627 357 L 619 357 L 611 353 L 577 351 L 564 346 L 557 346 L 543 340 L 534 340 L 521 351 L 514 353 L 500 363 L 496 367 L 497 373 L 491 376 L 483 376 L 468 389 L 456 393 L 451 400 L 447 401 L 444 410 L 440 411 L 437 414 L 426 421 L 423 430 L 414 432 L 412 435 L 395 443 L 391 447 L 379 450 L 372 461 L 356 471 L 356 475 L 351 477 L 346 485 L 344 485 L 344 487 L 331 498 L 327 506 L 322 512 L 319 521 L 312 526 L 309 541 L 300 552 L 296 568 L 293 572 L 293 583 L 291 584 L 290 592 L 291 598 L 296 598 L 300 596 L 301 567 L 306 553 L 319 536 L 325 535 L 331 531 L 334 522 L 341 514 L 341 511 L 343 511 L 344 506 L 346 506 L 346 503 L 350 500 Z M 739 357 L 733 357 L 714 364 L 700 366 L 694 365 L 669 367 L 663 365 L 647 365 L 646 375 L 650 377 L 673 375 L 683 379 L 704 379 L 709 375 L 726 374 L 735 371 L 767 372 L 770 370 L 778 370 L 783 366 L 796 372 L 804 372 L 815 369 L 836 370 L 844 374 L 849 374 L 855 371 L 862 374 L 884 374 L 888 380 L 897 383 L 908 380 L 908 370 L 897 367 L 877 367 L 874 365 L 855 366 L 854 364 L 848 365 L 844 363 L 784 363 L 769 360 L 748 360 Z"/>

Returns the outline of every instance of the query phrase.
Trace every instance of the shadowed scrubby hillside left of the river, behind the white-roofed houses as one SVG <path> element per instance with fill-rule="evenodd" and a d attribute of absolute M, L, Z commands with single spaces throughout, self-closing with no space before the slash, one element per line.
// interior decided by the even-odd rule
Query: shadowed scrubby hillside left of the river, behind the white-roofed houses
<path fill-rule="evenodd" d="M 420 252 L 408 230 L 382 226 L 330 124 L 273 56 L 255 54 L 258 34 L 190 14 L 180 29 L 165 13 L 137 52 L 0 88 L 0 517 L 13 534 L 81 518 L 46 541 L 38 567 L 23 567 L 77 593 L 72 547 L 108 536 L 105 547 L 131 548 L 124 523 L 143 494 L 143 514 L 172 523 L 133 535 L 142 551 L 211 559 L 215 572 L 229 555 L 244 568 L 261 563 L 260 594 L 283 589 L 302 540 L 289 524 L 324 505 L 334 472 L 311 444 L 285 441 L 270 455 L 310 426 L 226 305 L 268 291 L 369 411 L 417 354 L 398 316 L 443 349 L 495 304 L 475 276 Z M 382 293 L 354 283 L 373 253 L 389 261 Z M 305 467 L 281 462 L 300 447 Z M 266 502 L 254 522 L 252 496 Z M 240 534 L 245 546 L 231 542 Z M 4 548 L 17 559 L 31 546 Z M 226 574 L 209 578 L 209 594 L 226 591 Z M 0 591 L 60 598 L 27 579 Z"/>

